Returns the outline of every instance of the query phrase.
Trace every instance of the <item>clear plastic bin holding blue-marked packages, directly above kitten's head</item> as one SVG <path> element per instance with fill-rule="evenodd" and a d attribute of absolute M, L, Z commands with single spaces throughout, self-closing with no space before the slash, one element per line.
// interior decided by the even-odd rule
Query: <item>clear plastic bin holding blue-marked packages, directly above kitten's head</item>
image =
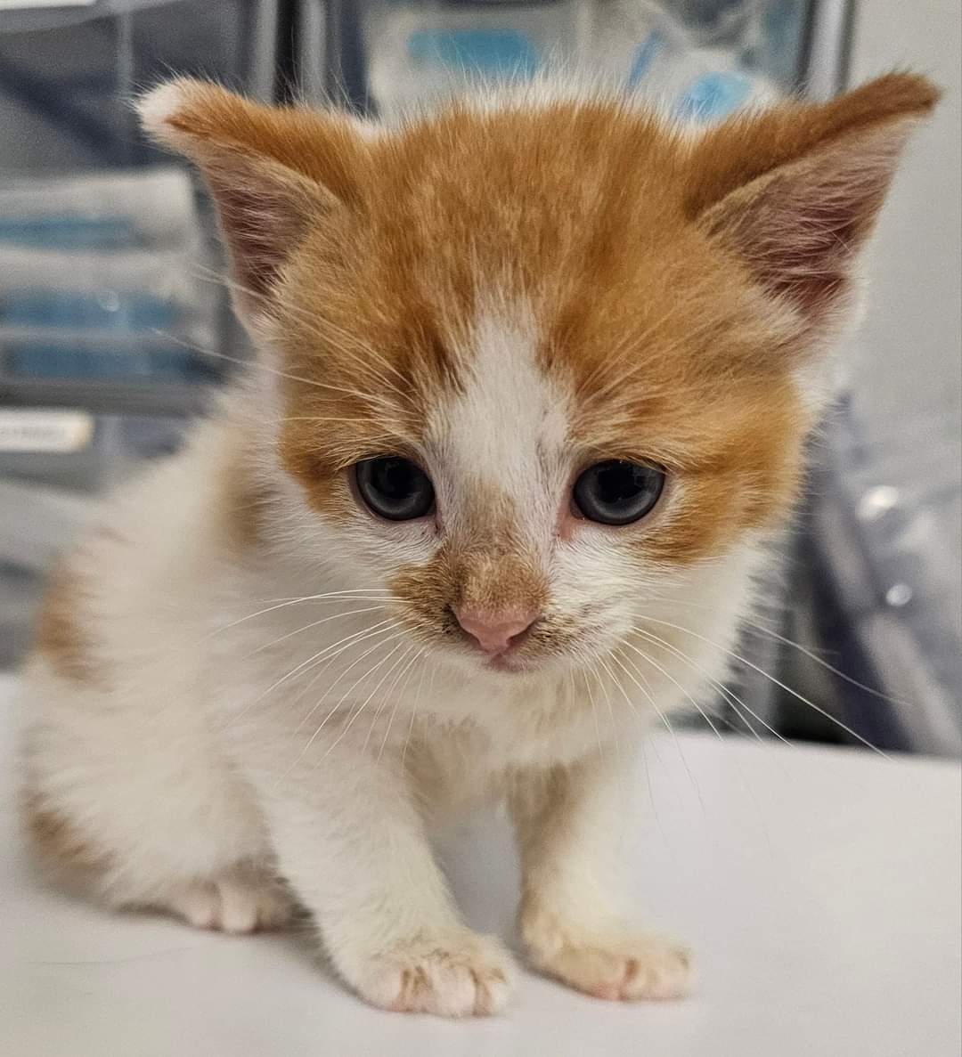
<path fill-rule="evenodd" d="M 809 0 L 304 2 L 309 96 L 392 117 L 478 81 L 575 67 L 683 116 L 724 116 L 807 75 Z M 321 17 L 320 8 L 326 11 Z M 313 12 L 313 15 L 311 14 Z M 320 35 L 323 39 L 319 39 Z M 323 54 L 323 68 L 317 55 Z"/>

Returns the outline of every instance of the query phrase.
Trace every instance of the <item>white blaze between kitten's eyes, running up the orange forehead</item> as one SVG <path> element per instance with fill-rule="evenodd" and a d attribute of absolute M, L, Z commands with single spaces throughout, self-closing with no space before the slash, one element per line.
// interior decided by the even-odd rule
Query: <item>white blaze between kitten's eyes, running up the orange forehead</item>
<path fill-rule="evenodd" d="M 429 428 L 451 528 L 468 512 L 484 514 L 479 499 L 500 497 L 525 539 L 543 545 L 554 533 L 569 472 L 569 400 L 537 361 L 539 339 L 532 313 L 515 308 L 482 311 L 459 342 L 462 391 Z"/>

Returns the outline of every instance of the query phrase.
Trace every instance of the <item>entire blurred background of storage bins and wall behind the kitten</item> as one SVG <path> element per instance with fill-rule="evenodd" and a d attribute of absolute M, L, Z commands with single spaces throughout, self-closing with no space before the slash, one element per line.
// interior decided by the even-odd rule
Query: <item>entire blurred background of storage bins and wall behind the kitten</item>
<path fill-rule="evenodd" d="M 708 123 L 910 66 L 946 98 L 882 218 L 867 321 L 718 724 L 959 755 L 960 38 L 958 0 L 0 0 L 0 671 L 105 489 L 177 450 L 249 354 L 208 203 L 140 135 L 138 91 L 189 73 L 390 118 L 571 59 Z"/>

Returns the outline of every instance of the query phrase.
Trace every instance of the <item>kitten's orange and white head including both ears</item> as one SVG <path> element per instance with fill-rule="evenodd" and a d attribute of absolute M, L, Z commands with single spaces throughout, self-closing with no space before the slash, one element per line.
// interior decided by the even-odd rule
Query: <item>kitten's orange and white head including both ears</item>
<path fill-rule="evenodd" d="M 698 136 L 603 97 L 397 130 L 184 80 L 141 109 L 214 193 L 319 544 L 443 655 L 517 671 L 734 590 L 936 98 L 890 75 Z"/>

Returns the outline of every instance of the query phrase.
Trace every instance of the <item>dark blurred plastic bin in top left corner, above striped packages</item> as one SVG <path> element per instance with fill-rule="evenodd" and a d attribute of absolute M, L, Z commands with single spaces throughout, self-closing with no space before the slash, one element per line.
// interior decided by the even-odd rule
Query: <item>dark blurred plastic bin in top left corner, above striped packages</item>
<path fill-rule="evenodd" d="M 170 75 L 273 94 L 277 0 L 0 6 L 0 174 L 143 165 L 130 99 Z"/>

